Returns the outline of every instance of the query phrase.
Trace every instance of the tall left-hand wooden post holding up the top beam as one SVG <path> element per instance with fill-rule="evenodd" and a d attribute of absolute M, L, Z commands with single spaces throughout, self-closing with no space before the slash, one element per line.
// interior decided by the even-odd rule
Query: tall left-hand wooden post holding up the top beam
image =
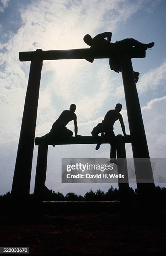
<path fill-rule="evenodd" d="M 40 60 L 41 52 L 42 50 L 37 50 L 38 59 L 31 61 L 30 64 L 30 74 L 12 183 L 12 195 L 16 198 L 25 199 L 30 192 L 37 106 L 42 71 L 42 60 Z"/>

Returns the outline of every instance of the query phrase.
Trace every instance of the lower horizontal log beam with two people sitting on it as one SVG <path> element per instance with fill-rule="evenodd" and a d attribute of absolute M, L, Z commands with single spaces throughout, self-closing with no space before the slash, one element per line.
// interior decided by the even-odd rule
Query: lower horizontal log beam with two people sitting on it
<path fill-rule="evenodd" d="M 122 136 L 122 135 L 117 135 L 116 138 L 118 136 Z M 98 138 L 94 138 L 93 136 L 78 136 L 78 137 L 71 137 L 71 138 L 55 139 L 54 141 L 43 136 L 43 137 L 35 138 L 35 145 L 40 145 L 43 139 L 46 141 L 47 145 L 52 145 L 54 143 L 56 145 L 109 143 L 106 138 L 101 136 L 99 136 Z M 124 143 L 131 143 L 130 135 L 123 136 L 123 139 L 124 139 Z"/>

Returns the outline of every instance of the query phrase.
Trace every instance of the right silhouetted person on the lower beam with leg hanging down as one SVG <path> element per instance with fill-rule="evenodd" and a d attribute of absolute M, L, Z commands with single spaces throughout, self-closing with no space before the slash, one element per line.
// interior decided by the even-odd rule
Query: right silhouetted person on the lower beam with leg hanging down
<path fill-rule="evenodd" d="M 98 137 L 99 133 L 102 133 L 102 136 L 106 136 L 109 143 L 111 144 L 111 153 L 110 153 L 110 162 L 116 163 L 116 141 L 115 141 L 115 134 L 113 132 L 114 123 L 116 120 L 119 120 L 121 123 L 121 129 L 123 134 L 126 135 L 125 126 L 123 122 L 122 115 L 120 114 L 122 105 L 120 103 L 116 104 L 114 110 L 109 110 L 104 117 L 102 123 L 99 123 L 96 127 L 93 128 L 92 136 Z M 98 143 L 96 146 L 96 150 L 99 149 L 101 143 Z"/>

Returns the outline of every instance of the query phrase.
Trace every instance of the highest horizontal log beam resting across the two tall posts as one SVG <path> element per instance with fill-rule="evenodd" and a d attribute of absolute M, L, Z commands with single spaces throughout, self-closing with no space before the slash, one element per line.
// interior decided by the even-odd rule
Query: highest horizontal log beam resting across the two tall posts
<path fill-rule="evenodd" d="M 55 50 L 55 51 L 22 51 L 19 52 L 20 61 L 35 61 L 35 60 L 58 60 L 58 59 L 109 59 L 111 57 L 124 59 L 129 58 L 144 58 L 146 51 L 142 49 L 131 48 L 127 50 L 120 50 L 112 48 L 110 51 L 94 51 L 89 48 L 71 49 L 71 50 Z"/>

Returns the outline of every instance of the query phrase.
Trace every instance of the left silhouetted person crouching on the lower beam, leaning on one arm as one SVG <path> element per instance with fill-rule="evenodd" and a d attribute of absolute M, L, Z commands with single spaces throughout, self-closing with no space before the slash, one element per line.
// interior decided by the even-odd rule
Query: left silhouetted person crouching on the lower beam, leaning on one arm
<path fill-rule="evenodd" d="M 53 123 L 50 133 L 47 133 L 44 137 L 49 138 L 59 138 L 59 137 L 72 137 L 73 132 L 66 128 L 66 125 L 70 121 L 74 121 L 74 132 L 75 136 L 78 136 L 78 126 L 77 126 L 77 115 L 74 113 L 76 110 L 76 105 L 70 105 L 69 110 L 64 110 L 60 115 L 59 118 Z M 55 146 L 55 144 L 52 144 Z"/>

